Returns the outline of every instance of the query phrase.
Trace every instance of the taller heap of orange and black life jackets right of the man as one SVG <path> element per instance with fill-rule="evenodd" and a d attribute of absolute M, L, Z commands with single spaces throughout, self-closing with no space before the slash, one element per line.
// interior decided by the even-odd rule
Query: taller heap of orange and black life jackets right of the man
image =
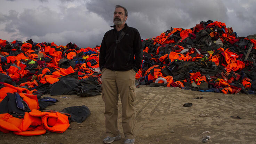
<path fill-rule="evenodd" d="M 136 74 L 141 85 L 157 81 L 203 92 L 256 93 L 256 40 L 238 37 L 225 23 L 171 28 L 142 45 L 142 68 Z"/>

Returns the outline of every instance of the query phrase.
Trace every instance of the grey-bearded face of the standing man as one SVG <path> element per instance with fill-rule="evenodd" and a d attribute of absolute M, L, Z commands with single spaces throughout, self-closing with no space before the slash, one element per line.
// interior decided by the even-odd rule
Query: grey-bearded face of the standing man
<path fill-rule="evenodd" d="M 122 8 L 116 8 L 114 12 L 113 23 L 115 25 L 124 24 L 127 20 L 127 16 L 125 15 L 125 10 Z"/>

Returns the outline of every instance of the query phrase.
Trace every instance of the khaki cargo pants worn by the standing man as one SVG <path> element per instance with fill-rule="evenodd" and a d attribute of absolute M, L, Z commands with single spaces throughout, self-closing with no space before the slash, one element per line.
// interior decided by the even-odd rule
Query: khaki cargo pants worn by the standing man
<path fill-rule="evenodd" d="M 134 139 L 135 127 L 135 74 L 129 71 L 102 70 L 102 99 L 105 102 L 106 136 L 118 136 L 118 94 L 122 103 L 122 127 L 127 139 Z"/>

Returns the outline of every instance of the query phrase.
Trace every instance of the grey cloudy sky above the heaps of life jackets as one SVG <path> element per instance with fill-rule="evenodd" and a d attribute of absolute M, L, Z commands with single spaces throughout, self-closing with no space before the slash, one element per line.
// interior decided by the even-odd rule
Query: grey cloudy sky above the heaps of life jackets
<path fill-rule="evenodd" d="M 256 31 L 256 0 L 0 0 L 0 39 L 95 47 L 113 25 L 115 5 L 127 8 L 126 23 L 142 39 L 209 19 L 240 37 Z"/>

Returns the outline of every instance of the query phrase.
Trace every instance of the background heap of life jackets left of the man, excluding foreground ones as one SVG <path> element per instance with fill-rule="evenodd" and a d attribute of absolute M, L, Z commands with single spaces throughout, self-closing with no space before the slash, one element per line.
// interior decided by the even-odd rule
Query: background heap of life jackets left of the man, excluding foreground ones
<path fill-rule="evenodd" d="M 67 95 L 99 95 L 99 48 L 79 48 L 72 43 L 57 46 L 54 42 L 35 43 L 31 39 L 9 43 L 0 39 L 0 93 L 5 87 L 3 83 L 8 83 L 41 94 L 61 91 Z M 94 93 L 87 94 L 90 90 Z M 4 97 L 0 95 L 0 102 Z"/>

